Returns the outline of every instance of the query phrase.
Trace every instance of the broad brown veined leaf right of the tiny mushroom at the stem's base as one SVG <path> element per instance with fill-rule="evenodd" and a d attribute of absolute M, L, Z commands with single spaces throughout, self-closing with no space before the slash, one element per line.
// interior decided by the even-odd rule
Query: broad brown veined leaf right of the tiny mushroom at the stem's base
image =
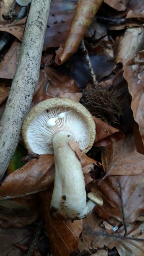
<path fill-rule="evenodd" d="M 131 176 L 114 176 L 92 181 L 88 188 L 97 193 L 103 200 L 103 205 L 96 205 L 94 210 L 102 219 L 111 221 L 115 218 L 123 222 L 133 222 L 144 210 L 144 173 Z"/>

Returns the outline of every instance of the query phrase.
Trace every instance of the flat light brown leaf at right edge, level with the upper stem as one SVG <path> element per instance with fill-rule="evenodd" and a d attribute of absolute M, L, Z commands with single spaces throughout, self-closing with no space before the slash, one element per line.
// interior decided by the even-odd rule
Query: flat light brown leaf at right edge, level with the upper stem
<path fill-rule="evenodd" d="M 109 175 L 137 175 L 144 171 L 144 158 L 135 148 L 132 135 L 105 147 L 103 169 Z"/>

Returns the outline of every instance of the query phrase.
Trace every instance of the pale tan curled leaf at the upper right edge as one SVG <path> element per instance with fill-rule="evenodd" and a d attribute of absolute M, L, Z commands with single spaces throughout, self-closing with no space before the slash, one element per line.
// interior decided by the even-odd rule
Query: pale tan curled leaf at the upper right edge
<path fill-rule="evenodd" d="M 119 41 L 116 63 L 124 62 L 143 49 L 144 28 L 128 28 Z"/>

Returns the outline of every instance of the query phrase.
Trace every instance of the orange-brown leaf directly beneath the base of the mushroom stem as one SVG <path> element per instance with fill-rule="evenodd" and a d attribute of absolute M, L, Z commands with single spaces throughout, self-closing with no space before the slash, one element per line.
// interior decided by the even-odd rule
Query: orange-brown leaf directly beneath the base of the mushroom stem
<path fill-rule="evenodd" d="M 59 220 L 51 217 L 51 196 L 52 193 L 49 190 L 39 193 L 51 249 L 54 256 L 69 256 L 71 252 L 77 249 L 79 234 L 82 231 L 82 220 L 71 222 L 70 220 Z"/>

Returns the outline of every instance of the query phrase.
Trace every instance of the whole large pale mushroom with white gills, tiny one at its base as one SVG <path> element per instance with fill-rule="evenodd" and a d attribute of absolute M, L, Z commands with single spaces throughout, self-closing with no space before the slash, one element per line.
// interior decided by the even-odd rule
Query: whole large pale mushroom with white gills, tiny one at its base
<path fill-rule="evenodd" d="M 22 137 L 28 150 L 42 155 L 54 153 L 55 179 L 51 200 L 53 217 L 82 219 L 95 202 L 102 199 L 86 191 L 82 165 L 69 143 L 74 140 L 83 153 L 95 139 L 95 124 L 89 111 L 66 98 L 52 98 L 30 110 L 22 125 Z"/>

